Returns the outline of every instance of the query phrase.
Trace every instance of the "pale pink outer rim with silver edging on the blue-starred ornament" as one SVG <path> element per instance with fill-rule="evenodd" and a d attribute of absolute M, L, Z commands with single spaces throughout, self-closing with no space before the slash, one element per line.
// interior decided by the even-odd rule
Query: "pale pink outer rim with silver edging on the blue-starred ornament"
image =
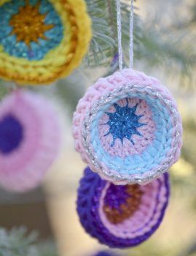
<path fill-rule="evenodd" d="M 159 94 L 162 98 L 162 104 L 168 104 L 170 109 L 170 116 L 173 123 L 170 151 L 168 151 L 165 159 L 160 163 L 160 166 L 149 168 L 144 174 L 121 174 L 117 170 L 112 169 L 97 159 L 95 152 L 90 148 L 90 135 L 86 135 L 87 126 L 95 116 L 95 109 L 98 104 L 102 104 L 108 97 L 108 102 L 112 98 L 112 94 L 117 94 L 121 90 L 127 91 L 130 89 L 137 89 L 141 86 L 144 90 L 149 90 L 149 93 Z M 144 91 L 144 94 L 146 92 Z M 103 100 L 104 99 L 104 100 Z M 166 103 L 164 103 L 165 101 Z M 104 104 L 104 103 L 103 103 Z M 167 106 L 166 106 L 167 107 Z M 90 119 L 91 118 L 91 119 Z M 174 120 L 175 119 L 175 120 Z M 179 116 L 177 105 L 172 95 L 160 81 L 156 78 L 146 76 L 143 72 L 138 72 L 133 69 L 123 69 L 122 72 L 115 72 L 107 78 L 100 78 L 93 86 L 91 86 L 85 96 L 79 100 L 77 110 L 74 113 L 73 119 L 73 136 L 75 140 L 75 149 L 81 154 L 82 159 L 90 168 L 101 175 L 102 178 L 113 182 L 114 184 L 144 184 L 157 178 L 162 173 L 165 173 L 173 163 L 175 163 L 181 154 L 182 146 L 182 125 L 181 117 Z"/>

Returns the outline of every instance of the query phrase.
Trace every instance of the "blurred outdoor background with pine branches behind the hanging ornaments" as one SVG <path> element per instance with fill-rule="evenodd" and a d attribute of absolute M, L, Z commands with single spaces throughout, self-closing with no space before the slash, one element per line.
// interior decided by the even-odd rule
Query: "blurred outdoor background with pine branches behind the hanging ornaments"
<path fill-rule="evenodd" d="M 74 1 L 74 0 L 73 0 Z M 93 40 L 82 65 L 51 86 L 28 89 L 59 105 L 64 146 L 41 187 L 24 195 L 0 191 L 0 255 L 93 256 L 98 251 L 134 256 L 196 255 L 196 1 L 137 0 L 134 67 L 168 86 L 184 124 L 181 159 L 170 170 L 172 193 L 164 221 L 141 246 L 108 250 L 79 224 L 76 198 L 84 163 L 74 151 L 71 118 L 80 97 L 98 77 L 117 69 L 115 1 L 86 0 Z M 129 1 L 122 1 L 124 58 L 128 61 Z M 1 81 L 0 97 L 12 84 Z"/>

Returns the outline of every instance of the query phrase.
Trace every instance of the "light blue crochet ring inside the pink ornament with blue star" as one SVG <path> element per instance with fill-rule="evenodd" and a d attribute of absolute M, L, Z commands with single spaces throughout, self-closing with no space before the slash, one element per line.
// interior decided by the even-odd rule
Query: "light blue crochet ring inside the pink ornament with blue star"
<path fill-rule="evenodd" d="M 151 108 L 152 119 L 156 124 L 156 131 L 154 132 L 154 140 L 152 141 L 152 144 L 147 146 L 141 154 L 130 155 L 122 159 L 121 157 L 111 156 L 109 152 L 103 148 L 99 138 L 98 124 L 100 118 L 104 113 L 106 113 L 106 110 L 114 104 L 114 102 L 128 97 L 144 99 L 146 101 Z M 149 97 L 148 95 L 139 93 L 123 94 L 112 99 L 111 102 L 104 105 L 98 111 L 91 124 L 91 144 L 93 145 L 93 150 L 96 151 L 96 157 L 98 160 L 103 162 L 103 165 L 106 165 L 110 170 L 116 170 L 121 175 L 144 174 L 149 172 L 149 170 L 152 170 L 154 167 L 157 167 L 157 165 L 160 165 L 167 156 L 172 140 L 170 129 L 167 129 L 167 127 L 171 126 L 170 113 L 167 108 L 162 105 L 160 99 L 152 99 L 152 97 Z M 165 132 L 164 136 L 161 134 L 162 131 Z M 148 165 L 146 165 L 146 162 Z"/>

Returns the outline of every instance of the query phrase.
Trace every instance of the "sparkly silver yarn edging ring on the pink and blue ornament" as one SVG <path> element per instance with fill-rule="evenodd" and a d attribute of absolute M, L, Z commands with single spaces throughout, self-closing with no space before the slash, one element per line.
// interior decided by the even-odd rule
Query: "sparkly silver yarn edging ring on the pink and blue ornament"
<path fill-rule="evenodd" d="M 149 94 L 154 97 L 157 97 L 158 99 L 160 99 L 162 103 L 164 103 L 166 108 L 170 110 L 170 113 L 172 113 L 173 115 L 173 127 L 176 128 L 176 134 L 174 136 L 176 141 L 175 143 L 176 146 L 173 147 L 173 152 L 172 154 L 170 154 L 170 157 L 167 158 L 167 161 L 162 162 L 161 166 L 155 168 L 153 173 L 150 171 L 148 173 L 138 174 L 138 175 L 136 174 L 122 175 L 120 173 L 118 174 L 114 172 L 112 173 L 112 171 L 109 172 L 107 170 L 104 170 L 100 160 L 96 157 L 95 151 L 93 150 L 93 146 L 90 143 L 91 124 L 93 123 L 95 116 L 98 114 L 98 111 L 101 110 L 101 108 L 104 105 L 111 102 L 111 100 L 114 100 L 116 97 L 123 96 L 123 95 L 126 97 L 127 94 L 134 94 L 137 92 L 144 95 Z M 162 173 L 165 173 L 165 171 L 167 171 L 168 168 L 170 167 L 169 162 L 173 161 L 172 155 L 175 154 L 176 151 L 178 150 L 178 142 L 181 137 L 180 131 L 181 131 L 181 124 L 179 124 L 179 113 L 177 113 L 176 109 L 173 108 L 173 103 L 169 99 L 165 99 L 164 97 L 162 97 L 162 94 L 160 94 L 160 92 L 158 91 L 154 91 L 154 89 L 151 86 L 144 87 L 139 85 L 127 85 L 127 86 L 121 86 L 117 89 L 114 89 L 114 91 L 109 92 L 108 94 L 101 97 L 101 99 L 95 102 L 95 104 L 93 105 L 93 108 L 86 113 L 83 129 L 82 129 L 82 141 L 83 141 L 85 151 L 87 152 L 87 155 L 90 159 L 90 162 L 94 167 L 94 170 L 97 173 L 99 173 L 101 176 L 105 178 L 109 178 L 109 180 L 111 180 L 112 178 L 112 181 L 115 184 L 136 184 L 136 183 L 145 184 L 151 181 L 152 179 L 157 178 Z M 121 167 L 118 167 L 118 168 L 120 169 Z M 140 168 L 138 168 L 138 171 L 139 170 Z"/>

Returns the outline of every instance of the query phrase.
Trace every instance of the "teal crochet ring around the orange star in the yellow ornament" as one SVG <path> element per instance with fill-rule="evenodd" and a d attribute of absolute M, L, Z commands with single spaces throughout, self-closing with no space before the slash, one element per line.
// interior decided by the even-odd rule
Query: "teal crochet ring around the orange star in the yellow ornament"
<path fill-rule="evenodd" d="M 9 24 L 12 15 L 16 15 L 20 7 L 26 6 L 25 0 L 12 0 L 0 6 L 0 45 L 3 46 L 4 52 L 9 56 L 28 59 L 29 61 L 39 61 L 52 49 L 56 48 L 63 39 L 63 23 L 60 20 L 58 12 L 54 9 L 48 0 L 29 0 L 31 6 L 39 2 L 40 14 L 47 14 L 44 24 L 52 24 L 53 28 L 44 32 L 47 39 L 39 38 L 38 42 L 17 42 L 17 37 L 12 34 L 13 27 Z"/>

